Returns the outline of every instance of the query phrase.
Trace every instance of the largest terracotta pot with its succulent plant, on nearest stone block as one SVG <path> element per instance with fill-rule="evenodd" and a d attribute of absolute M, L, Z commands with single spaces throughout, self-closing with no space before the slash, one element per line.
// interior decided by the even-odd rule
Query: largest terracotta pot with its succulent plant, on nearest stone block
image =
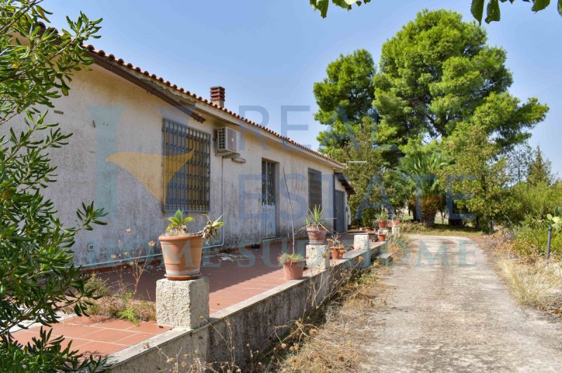
<path fill-rule="evenodd" d="M 158 240 L 162 246 L 162 257 L 166 267 L 166 278 L 169 280 L 192 280 L 201 276 L 201 257 L 203 240 L 216 236 L 218 228 L 223 226 L 219 217 L 214 222 L 207 215 L 207 224 L 202 231 L 189 233 L 185 225 L 193 220 L 192 217 L 183 217 L 183 212 L 177 210 L 173 217 L 169 217 L 169 226 Z"/>

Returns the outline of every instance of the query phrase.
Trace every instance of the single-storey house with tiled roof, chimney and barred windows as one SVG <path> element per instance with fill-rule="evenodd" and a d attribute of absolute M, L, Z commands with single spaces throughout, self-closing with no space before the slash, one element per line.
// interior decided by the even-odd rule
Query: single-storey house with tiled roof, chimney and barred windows
<path fill-rule="evenodd" d="M 195 218 L 192 231 L 204 214 L 223 217 L 213 251 L 288 237 L 315 205 L 346 231 L 344 164 L 226 109 L 224 88 L 205 99 L 88 48 L 91 71 L 73 76 L 47 116 L 74 135 L 51 154 L 58 182 L 46 196 L 67 225 L 82 202 L 107 212 L 109 224 L 77 237 L 77 264 L 145 254 L 178 209 Z"/>

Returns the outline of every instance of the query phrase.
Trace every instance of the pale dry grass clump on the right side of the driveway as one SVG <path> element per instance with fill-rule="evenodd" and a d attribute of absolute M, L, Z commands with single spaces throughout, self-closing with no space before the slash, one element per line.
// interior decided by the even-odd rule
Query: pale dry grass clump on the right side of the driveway
<path fill-rule="evenodd" d="M 535 307 L 551 304 L 562 291 L 560 267 L 554 262 L 523 264 L 504 258 L 498 264 L 511 294 L 521 304 Z"/>

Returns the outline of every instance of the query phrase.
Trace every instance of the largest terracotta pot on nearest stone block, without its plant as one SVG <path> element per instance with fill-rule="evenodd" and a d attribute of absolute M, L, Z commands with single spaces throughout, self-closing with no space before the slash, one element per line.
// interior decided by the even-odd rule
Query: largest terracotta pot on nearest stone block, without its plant
<path fill-rule="evenodd" d="M 159 236 L 169 280 L 192 280 L 201 276 L 203 236 Z"/>

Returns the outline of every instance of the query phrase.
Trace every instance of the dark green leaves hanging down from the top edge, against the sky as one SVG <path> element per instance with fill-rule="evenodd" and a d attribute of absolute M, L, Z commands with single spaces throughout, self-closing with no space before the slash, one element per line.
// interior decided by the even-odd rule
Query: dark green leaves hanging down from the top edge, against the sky
<path fill-rule="evenodd" d="M 360 6 L 361 4 L 370 3 L 371 0 L 331 0 L 334 6 L 339 6 L 340 8 L 347 9 L 348 11 L 351 10 L 351 6 L 354 4 Z M 471 0 L 470 10 L 473 17 L 478 20 L 478 22 L 482 23 L 482 19 L 484 18 L 486 23 L 499 21 L 502 18 L 501 9 L 499 7 L 499 2 L 507 3 L 509 1 L 511 4 L 514 4 L 516 0 Z M 525 3 L 532 3 L 531 11 L 538 12 L 542 11 L 544 8 L 547 8 L 551 0 L 521 0 Z M 562 0 L 555 0 L 552 1 L 553 3 L 557 3 L 558 13 L 562 15 Z M 313 9 L 320 11 L 320 15 L 322 18 L 326 18 L 328 14 L 330 0 L 311 0 L 311 6 Z M 469 0 L 466 0 L 466 3 L 469 3 Z"/>

